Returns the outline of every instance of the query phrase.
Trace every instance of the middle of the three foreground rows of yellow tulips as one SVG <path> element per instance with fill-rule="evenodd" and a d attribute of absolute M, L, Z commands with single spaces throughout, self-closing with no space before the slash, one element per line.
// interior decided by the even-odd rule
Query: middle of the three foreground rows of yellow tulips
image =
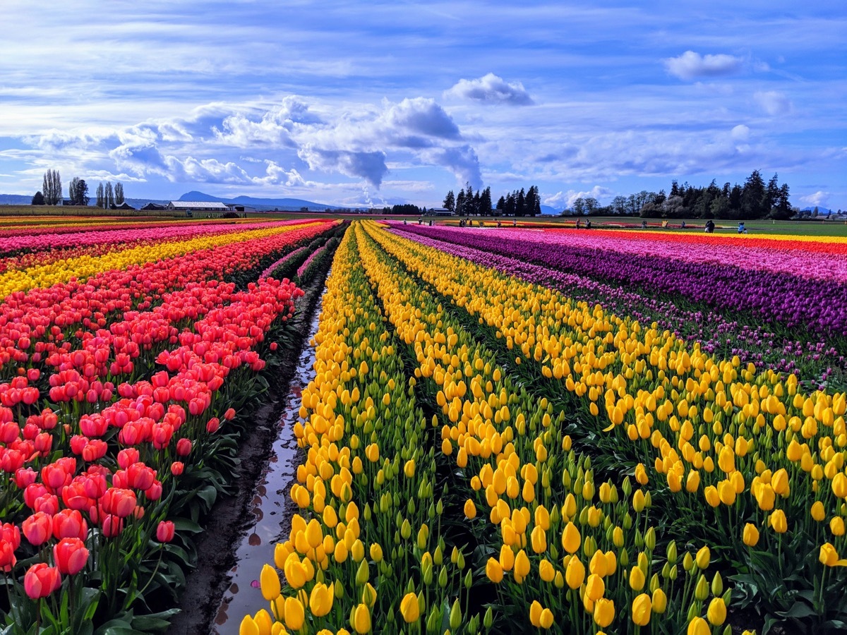
<path fill-rule="evenodd" d="M 703 572 L 709 549 L 686 553 L 682 573 L 675 543 L 660 554 L 650 492 L 633 491 L 628 478 L 620 488 L 596 483 L 590 459 L 562 434 L 564 413 L 551 416 L 547 400 L 519 389 L 451 310 L 380 249 L 390 238 L 366 226 L 355 231 L 368 278 L 440 406 L 441 450 L 462 475 L 457 488 L 468 495 L 464 513 L 487 555 L 502 621 L 520 631 L 586 633 L 722 626 L 729 594 L 720 574 L 710 583 Z"/>

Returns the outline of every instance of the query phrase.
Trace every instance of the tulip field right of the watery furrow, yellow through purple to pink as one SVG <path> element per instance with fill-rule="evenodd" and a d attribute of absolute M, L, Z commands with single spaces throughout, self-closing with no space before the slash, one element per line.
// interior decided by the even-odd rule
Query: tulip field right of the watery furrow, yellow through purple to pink
<path fill-rule="evenodd" d="M 847 242 L 356 222 L 240 632 L 847 629 Z"/>

